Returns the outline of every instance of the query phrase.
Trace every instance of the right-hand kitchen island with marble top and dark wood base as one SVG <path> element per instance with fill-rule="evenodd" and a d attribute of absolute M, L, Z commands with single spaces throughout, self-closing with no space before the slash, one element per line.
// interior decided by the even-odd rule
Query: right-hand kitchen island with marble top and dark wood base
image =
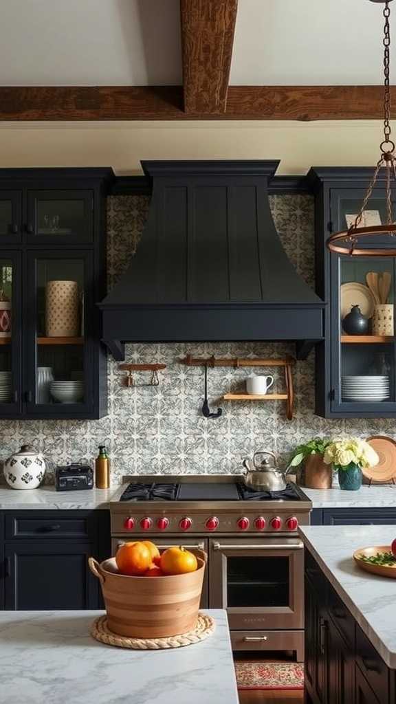
<path fill-rule="evenodd" d="M 305 546 L 307 704 L 394 704 L 396 579 L 360 570 L 352 555 L 390 545 L 392 526 L 300 527 Z"/>

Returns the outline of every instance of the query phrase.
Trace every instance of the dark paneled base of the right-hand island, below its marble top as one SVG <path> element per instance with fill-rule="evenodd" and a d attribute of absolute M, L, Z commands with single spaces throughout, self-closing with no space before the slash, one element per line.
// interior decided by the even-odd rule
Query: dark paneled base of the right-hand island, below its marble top
<path fill-rule="evenodd" d="M 305 551 L 305 703 L 394 704 L 390 670 Z"/>

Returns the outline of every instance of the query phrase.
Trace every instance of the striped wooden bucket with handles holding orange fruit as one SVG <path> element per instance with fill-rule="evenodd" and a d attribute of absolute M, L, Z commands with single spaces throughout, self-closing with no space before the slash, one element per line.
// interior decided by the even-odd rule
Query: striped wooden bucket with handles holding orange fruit
<path fill-rule="evenodd" d="M 113 633 L 133 638 L 168 638 L 194 629 L 206 566 L 206 553 L 194 551 L 198 569 L 167 577 L 120 574 L 116 559 L 89 558 L 101 583 L 107 624 Z"/>

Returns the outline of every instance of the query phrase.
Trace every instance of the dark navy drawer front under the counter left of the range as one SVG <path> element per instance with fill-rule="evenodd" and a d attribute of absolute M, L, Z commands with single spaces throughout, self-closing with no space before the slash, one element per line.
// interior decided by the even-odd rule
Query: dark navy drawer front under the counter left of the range
<path fill-rule="evenodd" d="M 66 515 L 65 515 L 66 514 Z M 18 538 L 61 539 L 91 538 L 95 533 L 96 519 L 81 511 L 23 511 L 6 515 L 6 540 Z"/>

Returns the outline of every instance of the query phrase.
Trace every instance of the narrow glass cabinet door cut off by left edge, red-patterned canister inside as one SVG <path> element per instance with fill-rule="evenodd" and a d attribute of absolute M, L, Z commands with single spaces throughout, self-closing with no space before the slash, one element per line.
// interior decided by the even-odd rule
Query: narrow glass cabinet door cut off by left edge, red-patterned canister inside
<path fill-rule="evenodd" d="M 0 256 L 0 415 L 20 410 L 20 255 Z"/>

